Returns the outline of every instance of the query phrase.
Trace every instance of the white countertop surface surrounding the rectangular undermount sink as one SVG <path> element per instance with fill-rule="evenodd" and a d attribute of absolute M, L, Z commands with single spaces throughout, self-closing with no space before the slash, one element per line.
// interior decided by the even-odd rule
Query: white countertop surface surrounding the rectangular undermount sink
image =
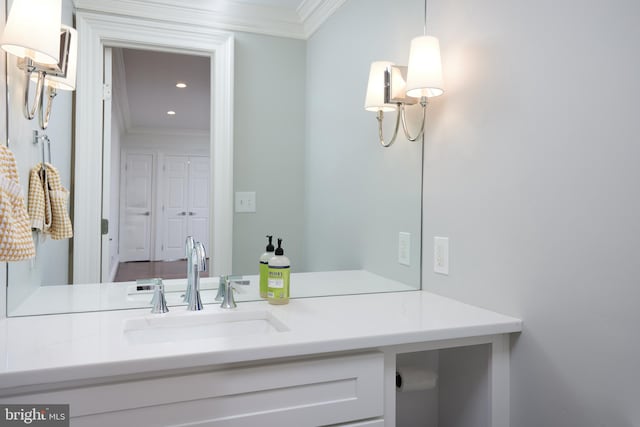
<path fill-rule="evenodd" d="M 175 307 L 0 320 L 0 395 L 23 386 L 207 365 L 378 348 L 518 332 L 519 319 L 425 291 L 292 299 L 288 305 L 244 302 L 235 309 L 267 310 L 288 331 L 141 344 L 128 341 L 124 322 L 145 316 L 199 316 Z"/>

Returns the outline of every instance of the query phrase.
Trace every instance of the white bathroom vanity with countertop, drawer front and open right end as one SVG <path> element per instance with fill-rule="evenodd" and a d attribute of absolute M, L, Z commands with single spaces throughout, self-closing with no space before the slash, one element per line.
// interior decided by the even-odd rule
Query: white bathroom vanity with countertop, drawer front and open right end
<path fill-rule="evenodd" d="M 424 291 L 8 318 L 0 402 L 70 404 L 77 426 L 395 426 L 398 355 L 486 345 L 506 427 L 521 327 Z"/>

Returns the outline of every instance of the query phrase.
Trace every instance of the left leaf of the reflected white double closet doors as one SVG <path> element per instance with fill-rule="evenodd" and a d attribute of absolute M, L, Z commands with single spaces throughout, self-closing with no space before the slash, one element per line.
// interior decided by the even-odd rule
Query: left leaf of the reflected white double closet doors
<path fill-rule="evenodd" d="M 166 156 L 164 162 L 164 188 L 159 195 L 164 197 L 163 259 L 174 260 L 185 257 L 184 241 L 187 237 L 189 158 Z"/>

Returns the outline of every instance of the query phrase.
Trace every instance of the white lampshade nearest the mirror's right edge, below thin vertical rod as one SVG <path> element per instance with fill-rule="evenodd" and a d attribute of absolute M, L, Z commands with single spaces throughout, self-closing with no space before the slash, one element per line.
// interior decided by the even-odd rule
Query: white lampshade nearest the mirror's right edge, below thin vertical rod
<path fill-rule="evenodd" d="M 444 93 L 440 42 L 432 36 L 411 40 L 409 71 L 407 72 L 407 96 L 433 97 Z"/>

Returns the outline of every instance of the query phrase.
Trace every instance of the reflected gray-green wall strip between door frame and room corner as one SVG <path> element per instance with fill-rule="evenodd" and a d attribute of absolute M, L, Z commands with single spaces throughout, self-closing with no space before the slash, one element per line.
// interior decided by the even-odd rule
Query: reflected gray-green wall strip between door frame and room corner
<path fill-rule="evenodd" d="M 267 234 L 305 271 L 305 42 L 235 35 L 234 191 L 255 191 L 256 212 L 234 214 L 229 273 L 258 273 Z"/>

